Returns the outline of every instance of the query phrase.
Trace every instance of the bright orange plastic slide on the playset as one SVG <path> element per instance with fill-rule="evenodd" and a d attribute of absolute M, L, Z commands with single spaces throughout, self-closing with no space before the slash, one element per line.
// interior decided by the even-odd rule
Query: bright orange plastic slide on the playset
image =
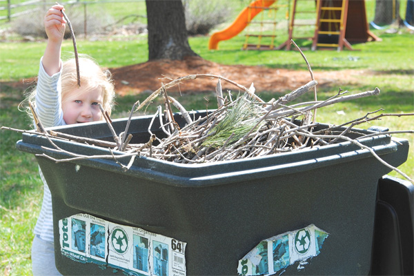
<path fill-rule="evenodd" d="M 253 19 L 259 12 L 262 12 L 262 8 L 268 8 L 268 6 L 275 3 L 275 1 L 277 0 L 256 0 L 250 3 L 242 10 L 242 12 L 240 12 L 239 16 L 230 26 L 211 35 L 210 40 L 208 41 L 208 50 L 217 50 L 219 41 L 231 39 L 239 34 L 239 32 L 242 32 L 242 30 L 248 26 L 251 19 Z"/>

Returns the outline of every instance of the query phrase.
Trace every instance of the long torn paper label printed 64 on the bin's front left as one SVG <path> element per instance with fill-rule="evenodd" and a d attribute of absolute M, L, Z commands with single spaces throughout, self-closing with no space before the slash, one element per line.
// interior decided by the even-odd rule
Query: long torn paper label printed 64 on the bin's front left
<path fill-rule="evenodd" d="M 128 275 L 186 275 L 186 243 L 87 214 L 59 220 L 62 255 Z"/>

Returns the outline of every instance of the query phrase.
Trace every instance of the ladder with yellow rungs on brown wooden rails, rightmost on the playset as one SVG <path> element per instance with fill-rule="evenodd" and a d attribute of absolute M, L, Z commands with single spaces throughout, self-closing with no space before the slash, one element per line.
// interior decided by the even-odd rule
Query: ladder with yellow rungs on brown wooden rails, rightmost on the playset
<path fill-rule="evenodd" d="M 313 36 L 312 50 L 317 47 L 337 48 L 341 51 L 344 46 L 353 50 L 351 44 L 345 39 L 346 20 L 348 17 L 349 0 L 317 0 L 317 19 L 315 24 L 315 34 Z M 337 5 L 337 4 L 340 4 Z M 339 13 L 339 17 L 338 17 Z M 331 40 L 337 42 L 324 43 L 319 34 L 326 34 Z M 337 39 L 335 39 L 336 36 Z"/>

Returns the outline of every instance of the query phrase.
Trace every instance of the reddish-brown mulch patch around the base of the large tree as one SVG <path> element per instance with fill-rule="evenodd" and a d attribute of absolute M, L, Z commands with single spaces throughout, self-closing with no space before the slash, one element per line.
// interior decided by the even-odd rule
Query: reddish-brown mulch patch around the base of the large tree
<path fill-rule="evenodd" d="M 311 81 L 308 70 L 273 69 L 263 66 L 226 66 L 199 57 L 188 57 L 182 61 L 148 61 L 122 68 L 111 68 L 115 80 L 115 88 L 119 95 L 138 94 L 157 90 L 162 83 L 170 79 L 193 74 L 220 75 L 242 86 L 250 87 L 254 83 L 256 91 L 284 92 L 294 90 Z M 338 84 L 352 81 L 355 75 L 362 74 L 361 70 L 340 70 L 332 72 L 314 72 L 319 86 Z M 170 79 L 168 79 L 168 78 Z M 168 89 L 168 92 L 197 92 L 214 90 L 217 79 L 195 79 L 181 83 Z M 223 88 L 235 90 L 235 86 L 222 82 Z M 338 86 L 338 87 L 339 87 Z"/>

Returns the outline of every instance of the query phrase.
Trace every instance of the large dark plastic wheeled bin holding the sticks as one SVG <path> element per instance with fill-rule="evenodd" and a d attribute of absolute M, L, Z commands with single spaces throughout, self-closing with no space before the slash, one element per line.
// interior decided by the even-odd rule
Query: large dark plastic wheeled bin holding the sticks
<path fill-rule="evenodd" d="M 192 116 L 199 115 L 205 114 Z M 131 143 L 148 141 L 151 119 L 132 119 Z M 175 119 L 185 124 L 180 115 Z M 124 131 L 126 121 L 112 122 L 117 133 Z M 53 129 L 112 139 L 102 122 Z M 152 132 L 162 136 L 158 123 Z M 106 148 L 54 141 L 62 149 L 83 155 L 110 154 Z M 404 139 L 379 133 L 360 142 L 393 166 L 406 161 L 408 141 Z M 23 134 L 17 148 L 58 159 L 69 157 L 50 150 L 45 137 L 30 133 Z M 37 156 L 37 161 L 52 193 L 57 268 L 70 275 L 113 273 L 61 254 L 57 221 L 79 213 L 186 242 L 187 275 L 237 275 L 239 260 L 262 240 L 315 224 L 329 237 L 321 253 L 306 265 L 306 274 L 367 275 L 377 183 L 390 172 L 368 150 L 350 142 L 212 164 L 176 164 L 140 157 L 126 171 L 111 159 L 55 163 Z M 286 274 L 304 271 L 289 266 Z"/>

